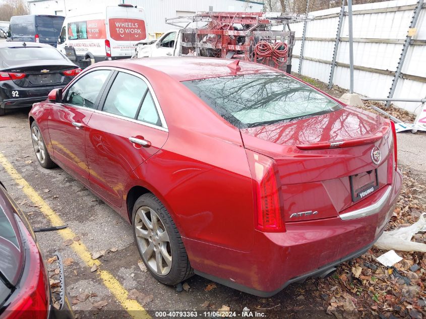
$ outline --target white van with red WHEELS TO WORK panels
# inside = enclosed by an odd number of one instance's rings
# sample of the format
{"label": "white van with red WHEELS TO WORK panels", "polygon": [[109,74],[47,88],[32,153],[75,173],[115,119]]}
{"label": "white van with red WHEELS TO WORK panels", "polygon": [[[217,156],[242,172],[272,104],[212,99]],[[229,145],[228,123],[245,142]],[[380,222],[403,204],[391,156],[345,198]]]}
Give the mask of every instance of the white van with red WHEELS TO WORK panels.
{"label": "white van with red WHEELS TO WORK panels", "polygon": [[128,4],[72,10],[64,20],[57,49],[74,47],[79,58],[96,62],[129,58],[134,45],[146,39],[142,8]]}

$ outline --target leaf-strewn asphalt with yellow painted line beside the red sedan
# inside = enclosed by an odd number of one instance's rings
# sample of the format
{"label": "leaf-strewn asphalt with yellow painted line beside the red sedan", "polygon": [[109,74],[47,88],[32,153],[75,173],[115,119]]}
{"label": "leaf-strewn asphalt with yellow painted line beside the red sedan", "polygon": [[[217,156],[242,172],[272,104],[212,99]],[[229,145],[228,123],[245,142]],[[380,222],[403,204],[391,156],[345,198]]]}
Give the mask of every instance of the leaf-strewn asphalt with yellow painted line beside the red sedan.
{"label": "leaf-strewn asphalt with yellow painted line beside the red sedan", "polygon": [[[182,292],[158,283],[138,265],[141,258],[127,221],[62,169],[44,169],[38,164],[27,116],[28,109],[23,109],[0,117],[0,180],[33,228],[55,223],[68,226],[63,231],[38,232],[37,239],[46,260],[55,251],[66,260],[67,294],[78,316],[99,312],[98,318],[167,317],[156,311],[199,310],[198,317],[209,317],[204,311],[225,305],[237,317],[247,307],[266,318],[329,318],[319,279],[290,285],[271,298],[255,297],[199,276],[188,279]],[[92,260],[96,252],[104,254]],[[267,269],[268,261],[264,262]],[[77,298],[85,293],[89,297],[80,298],[84,301]]]}

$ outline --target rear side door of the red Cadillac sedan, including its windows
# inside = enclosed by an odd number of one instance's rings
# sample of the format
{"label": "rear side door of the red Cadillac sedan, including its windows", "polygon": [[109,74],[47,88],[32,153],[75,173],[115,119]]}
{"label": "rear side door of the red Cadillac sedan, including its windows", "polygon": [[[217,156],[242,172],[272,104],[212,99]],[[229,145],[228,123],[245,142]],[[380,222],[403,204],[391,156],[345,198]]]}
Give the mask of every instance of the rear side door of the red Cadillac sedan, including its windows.
{"label": "rear side door of the red Cadillac sedan, including its windows", "polygon": [[129,175],[163,147],[168,130],[150,84],[137,73],[116,72],[99,108],[86,129],[90,186],[120,207]]}

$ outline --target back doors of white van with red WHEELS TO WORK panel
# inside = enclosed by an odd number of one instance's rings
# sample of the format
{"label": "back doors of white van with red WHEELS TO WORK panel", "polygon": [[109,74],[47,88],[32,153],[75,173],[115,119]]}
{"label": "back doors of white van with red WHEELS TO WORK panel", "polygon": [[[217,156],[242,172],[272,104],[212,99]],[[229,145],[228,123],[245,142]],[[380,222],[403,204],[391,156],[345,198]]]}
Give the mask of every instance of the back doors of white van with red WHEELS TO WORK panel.
{"label": "back doors of white van with red WHEELS TO WORK panel", "polygon": [[143,10],[119,5],[107,7],[106,14],[112,57],[132,56],[134,45],[146,39]]}

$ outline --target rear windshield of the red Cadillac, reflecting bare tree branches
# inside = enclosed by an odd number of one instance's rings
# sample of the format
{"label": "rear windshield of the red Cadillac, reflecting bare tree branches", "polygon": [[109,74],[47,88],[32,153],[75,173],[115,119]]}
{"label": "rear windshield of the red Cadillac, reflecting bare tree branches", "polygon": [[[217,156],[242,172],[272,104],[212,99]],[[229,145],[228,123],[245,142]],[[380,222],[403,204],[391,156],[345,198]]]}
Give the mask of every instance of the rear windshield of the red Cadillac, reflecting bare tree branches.
{"label": "rear windshield of the red Cadillac, reflecting bare tree branches", "polygon": [[307,118],[341,106],[283,73],[260,73],[182,82],[239,129]]}

